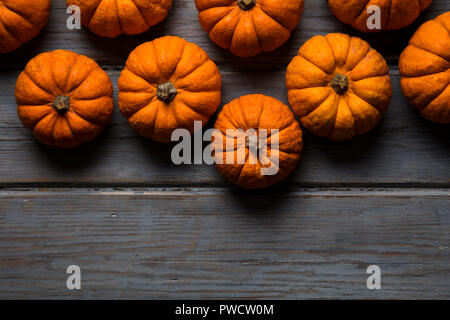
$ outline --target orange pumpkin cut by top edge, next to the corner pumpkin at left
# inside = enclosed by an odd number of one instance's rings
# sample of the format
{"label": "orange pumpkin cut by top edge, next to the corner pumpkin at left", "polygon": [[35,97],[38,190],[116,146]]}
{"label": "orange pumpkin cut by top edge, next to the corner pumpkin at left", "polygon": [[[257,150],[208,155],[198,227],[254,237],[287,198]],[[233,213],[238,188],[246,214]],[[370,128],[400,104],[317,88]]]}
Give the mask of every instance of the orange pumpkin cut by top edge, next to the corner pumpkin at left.
{"label": "orange pumpkin cut by top edge, next to the corner pumpkin at left", "polygon": [[95,34],[115,38],[139,34],[163,21],[172,0],[67,0],[81,10],[81,23]]}

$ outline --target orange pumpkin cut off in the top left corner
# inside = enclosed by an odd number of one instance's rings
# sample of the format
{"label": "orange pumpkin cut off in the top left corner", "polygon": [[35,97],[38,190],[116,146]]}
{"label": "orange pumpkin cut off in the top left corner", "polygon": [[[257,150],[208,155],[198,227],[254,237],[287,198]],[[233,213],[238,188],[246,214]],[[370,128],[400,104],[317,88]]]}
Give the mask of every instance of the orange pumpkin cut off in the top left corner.
{"label": "orange pumpkin cut off in the top left corner", "polygon": [[51,0],[0,0],[0,53],[14,51],[47,24]]}

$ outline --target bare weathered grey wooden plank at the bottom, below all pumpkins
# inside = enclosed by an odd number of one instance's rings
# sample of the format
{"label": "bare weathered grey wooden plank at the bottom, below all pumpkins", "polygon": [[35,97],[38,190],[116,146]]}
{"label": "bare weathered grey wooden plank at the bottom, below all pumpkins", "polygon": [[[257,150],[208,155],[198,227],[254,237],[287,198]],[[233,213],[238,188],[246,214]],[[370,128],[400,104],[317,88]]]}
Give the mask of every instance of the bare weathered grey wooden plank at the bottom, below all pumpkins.
{"label": "bare weathered grey wooden plank at the bottom, below all pumpkins", "polygon": [[449,195],[3,190],[0,298],[448,299]]}

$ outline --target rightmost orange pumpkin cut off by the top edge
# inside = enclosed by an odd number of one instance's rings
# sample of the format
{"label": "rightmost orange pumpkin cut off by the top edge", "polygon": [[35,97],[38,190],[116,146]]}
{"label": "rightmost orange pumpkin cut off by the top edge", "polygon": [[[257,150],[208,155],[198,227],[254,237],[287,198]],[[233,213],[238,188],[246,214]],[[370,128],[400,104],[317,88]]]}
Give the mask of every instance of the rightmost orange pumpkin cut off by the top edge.
{"label": "rightmost orange pumpkin cut off by the top edge", "polygon": [[[432,0],[328,0],[328,5],[342,22],[362,32],[377,32],[409,26],[431,2]],[[367,22],[375,14],[373,6],[380,9],[380,29],[367,27]]]}

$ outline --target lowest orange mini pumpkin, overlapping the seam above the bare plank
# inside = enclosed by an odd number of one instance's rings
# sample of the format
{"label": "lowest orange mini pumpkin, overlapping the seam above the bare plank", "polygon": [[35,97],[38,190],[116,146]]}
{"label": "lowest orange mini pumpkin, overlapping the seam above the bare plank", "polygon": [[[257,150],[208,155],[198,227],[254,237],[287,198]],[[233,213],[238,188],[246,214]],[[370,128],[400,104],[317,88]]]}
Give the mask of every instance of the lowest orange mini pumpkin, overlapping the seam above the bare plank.
{"label": "lowest orange mini pumpkin, overlapping the seam above the bare plank", "polygon": [[[222,133],[220,138],[214,139],[212,143],[215,150],[216,167],[227,180],[240,187],[262,189],[277,183],[295,169],[300,159],[303,149],[300,125],[289,107],[272,97],[253,94],[231,101],[219,113],[214,127]],[[254,129],[256,132],[266,129],[268,136],[266,154],[269,157],[272,154],[271,130],[279,130],[279,170],[276,175],[261,174],[261,168],[267,168],[270,165],[262,164],[260,158],[250,151],[248,145],[240,143],[242,139],[236,137],[234,139],[236,149],[227,149],[226,131],[238,129],[243,130],[242,134],[249,129]],[[245,164],[238,164],[237,155],[243,148],[245,148]],[[235,152],[234,164],[226,162],[229,152]],[[228,155],[228,157],[230,156]],[[217,159],[223,159],[222,164],[217,163]],[[272,164],[275,163],[272,162]]]}

